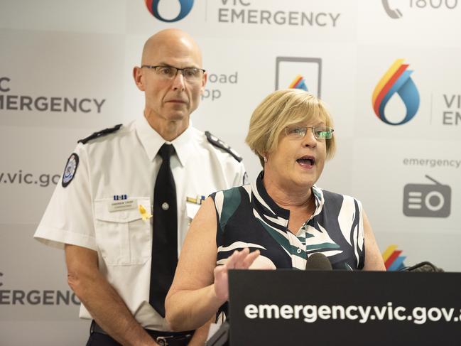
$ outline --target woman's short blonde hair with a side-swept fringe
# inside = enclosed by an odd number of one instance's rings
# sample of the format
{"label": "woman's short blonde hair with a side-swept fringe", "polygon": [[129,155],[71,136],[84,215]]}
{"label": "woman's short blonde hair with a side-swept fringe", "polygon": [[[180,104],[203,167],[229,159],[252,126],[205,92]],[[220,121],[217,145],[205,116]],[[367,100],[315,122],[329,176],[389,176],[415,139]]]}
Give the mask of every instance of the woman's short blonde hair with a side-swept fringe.
{"label": "woman's short blonde hair with a side-swept fringe", "polygon": [[[276,150],[286,126],[308,124],[310,121],[323,121],[325,126],[333,127],[327,107],[310,92],[299,89],[277,90],[254,109],[245,141],[264,167],[263,156]],[[325,141],[327,158],[332,158],[336,150],[335,136]]]}

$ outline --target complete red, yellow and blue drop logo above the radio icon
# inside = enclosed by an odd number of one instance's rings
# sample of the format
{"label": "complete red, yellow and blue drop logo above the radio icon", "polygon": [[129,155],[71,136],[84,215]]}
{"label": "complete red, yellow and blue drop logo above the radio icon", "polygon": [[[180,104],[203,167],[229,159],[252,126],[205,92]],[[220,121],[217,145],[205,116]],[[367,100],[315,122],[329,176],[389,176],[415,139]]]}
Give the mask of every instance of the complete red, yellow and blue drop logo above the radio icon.
{"label": "complete red, yellow and blue drop logo above the radio icon", "polygon": [[[419,92],[410,75],[413,71],[407,70],[408,64],[403,64],[403,59],[396,62],[387,70],[373,92],[374,114],[381,121],[389,125],[401,125],[413,119],[419,108]],[[401,97],[406,107],[405,117],[401,121],[392,122],[386,118],[384,110],[387,102],[395,94]]]}

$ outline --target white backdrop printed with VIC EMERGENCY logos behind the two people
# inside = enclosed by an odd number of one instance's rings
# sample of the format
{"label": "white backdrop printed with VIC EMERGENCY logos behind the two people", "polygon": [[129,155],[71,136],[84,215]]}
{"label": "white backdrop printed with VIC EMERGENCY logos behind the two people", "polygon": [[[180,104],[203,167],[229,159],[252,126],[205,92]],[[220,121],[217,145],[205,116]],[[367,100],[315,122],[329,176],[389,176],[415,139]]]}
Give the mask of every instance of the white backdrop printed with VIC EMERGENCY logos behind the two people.
{"label": "white backdrop printed with VIC EMERGENCY logos behind the two people", "polygon": [[[131,70],[162,28],[200,44],[209,82],[192,122],[235,148],[250,178],[261,169],[244,144],[252,110],[277,77],[288,87],[303,75],[335,119],[337,155],[318,185],[362,200],[382,252],[461,271],[461,1],[151,2],[167,20],[192,9],[168,23],[141,0],[0,0],[1,345],[85,343],[64,254],[32,236],[77,139],[142,116]],[[393,126],[371,96],[397,59],[420,104]],[[405,102],[394,94],[384,112],[399,121]],[[403,213],[406,187],[423,191],[425,216]]]}

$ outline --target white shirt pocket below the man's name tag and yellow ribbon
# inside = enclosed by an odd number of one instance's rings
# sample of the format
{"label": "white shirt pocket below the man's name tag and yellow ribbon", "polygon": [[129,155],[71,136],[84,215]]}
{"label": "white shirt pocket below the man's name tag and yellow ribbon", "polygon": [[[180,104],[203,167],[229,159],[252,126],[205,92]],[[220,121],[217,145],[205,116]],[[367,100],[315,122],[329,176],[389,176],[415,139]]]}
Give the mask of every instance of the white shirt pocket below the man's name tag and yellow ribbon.
{"label": "white shirt pocket below the man's name tag and yellow ribbon", "polygon": [[151,211],[150,198],[133,198],[134,207],[109,211],[112,199],[95,200],[96,242],[108,266],[144,264],[151,258],[151,219],[142,220],[139,205]]}

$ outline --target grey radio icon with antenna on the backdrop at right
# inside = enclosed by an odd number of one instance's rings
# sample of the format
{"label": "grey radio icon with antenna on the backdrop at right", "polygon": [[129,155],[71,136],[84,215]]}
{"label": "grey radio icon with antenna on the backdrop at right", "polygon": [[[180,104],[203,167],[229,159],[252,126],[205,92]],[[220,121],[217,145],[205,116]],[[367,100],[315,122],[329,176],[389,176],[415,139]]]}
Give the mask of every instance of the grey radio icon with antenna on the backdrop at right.
{"label": "grey radio icon with antenna on the backdrop at right", "polygon": [[434,184],[407,184],[403,188],[403,214],[416,217],[448,217],[451,188],[425,175]]}

